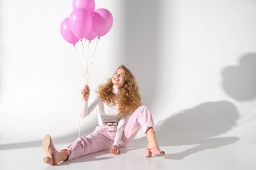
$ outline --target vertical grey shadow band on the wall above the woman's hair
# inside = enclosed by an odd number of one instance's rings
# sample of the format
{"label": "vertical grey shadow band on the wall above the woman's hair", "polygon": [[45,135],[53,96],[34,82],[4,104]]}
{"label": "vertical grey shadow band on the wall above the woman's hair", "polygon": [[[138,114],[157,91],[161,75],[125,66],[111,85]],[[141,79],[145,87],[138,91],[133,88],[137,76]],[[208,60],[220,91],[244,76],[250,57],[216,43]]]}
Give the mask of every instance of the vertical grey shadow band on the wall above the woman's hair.
{"label": "vertical grey shadow band on the wall above the woman's hair", "polygon": [[123,64],[135,75],[142,102],[150,106],[158,87],[160,6],[156,0],[124,1]]}

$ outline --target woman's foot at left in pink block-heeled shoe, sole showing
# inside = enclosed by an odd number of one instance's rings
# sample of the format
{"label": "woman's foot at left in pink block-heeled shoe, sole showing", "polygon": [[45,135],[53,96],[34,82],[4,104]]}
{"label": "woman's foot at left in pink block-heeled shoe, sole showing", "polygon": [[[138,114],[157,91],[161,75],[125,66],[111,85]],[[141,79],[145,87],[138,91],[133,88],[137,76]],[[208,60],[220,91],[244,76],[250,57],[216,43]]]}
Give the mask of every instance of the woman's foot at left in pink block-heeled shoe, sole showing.
{"label": "woman's foot at left in pink block-heeled shoe, sole showing", "polygon": [[46,157],[44,157],[44,163],[49,165],[57,165],[57,163],[67,159],[67,155],[57,151],[49,134],[46,134],[42,140],[42,150],[46,155]]}

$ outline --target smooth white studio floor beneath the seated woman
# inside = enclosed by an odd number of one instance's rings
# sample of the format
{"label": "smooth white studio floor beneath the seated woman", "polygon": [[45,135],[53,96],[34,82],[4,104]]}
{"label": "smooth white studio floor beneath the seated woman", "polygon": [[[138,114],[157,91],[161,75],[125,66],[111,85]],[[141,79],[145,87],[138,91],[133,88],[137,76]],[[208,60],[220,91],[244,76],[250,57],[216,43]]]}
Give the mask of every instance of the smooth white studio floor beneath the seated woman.
{"label": "smooth white studio floor beneath the seated woman", "polygon": [[[162,150],[166,152],[165,157],[145,157],[143,146],[146,144],[146,138],[137,138],[129,147],[121,149],[121,155],[113,156],[108,151],[102,151],[57,166],[49,166],[42,162],[44,154],[39,146],[40,141],[5,144],[0,145],[0,169],[255,170],[255,134],[246,134],[247,128],[254,127],[255,123],[251,122],[246,126],[222,134],[222,136],[190,140],[190,144],[189,142],[177,144],[177,140],[171,140],[172,136],[160,136],[161,133],[159,132],[159,143]],[[166,142],[162,139],[165,139]],[[57,148],[63,146],[66,144],[57,144]]]}

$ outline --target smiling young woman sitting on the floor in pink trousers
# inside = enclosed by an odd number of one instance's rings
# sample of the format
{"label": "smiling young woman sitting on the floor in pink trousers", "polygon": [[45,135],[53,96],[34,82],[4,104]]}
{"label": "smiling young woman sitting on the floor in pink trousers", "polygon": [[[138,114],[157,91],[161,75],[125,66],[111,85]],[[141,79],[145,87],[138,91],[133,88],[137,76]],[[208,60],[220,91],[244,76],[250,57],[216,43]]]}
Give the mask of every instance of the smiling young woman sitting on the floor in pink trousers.
{"label": "smiling young woman sitting on the floor in pink trousers", "polygon": [[57,151],[51,137],[47,134],[42,140],[42,149],[46,154],[44,163],[56,165],[96,153],[109,148],[113,155],[119,155],[119,147],[126,146],[137,134],[139,128],[148,138],[146,157],[164,156],[156,142],[154,122],[146,106],[141,106],[139,89],[135,77],[124,65],[121,65],[111,79],[98,88],[97,95],[88,103],[90,88],[81,91],[83,95],[82,117],[88,116],[98,106],[98,126],[88,136],[81,136],[61,151]]}

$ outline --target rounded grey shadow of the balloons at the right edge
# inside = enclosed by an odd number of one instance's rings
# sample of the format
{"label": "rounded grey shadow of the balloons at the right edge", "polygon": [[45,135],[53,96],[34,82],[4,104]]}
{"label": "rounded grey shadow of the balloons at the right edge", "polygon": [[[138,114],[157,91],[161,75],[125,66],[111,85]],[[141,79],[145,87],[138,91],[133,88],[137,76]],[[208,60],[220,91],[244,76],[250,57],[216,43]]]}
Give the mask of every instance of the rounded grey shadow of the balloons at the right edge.
{"label": "rounded grey shadow of the balloons at the right edge", "polygon": [[238,101],[250,101],[256,97],[256,53],[245,54],[236,66],[222,71],[222,87]]}

